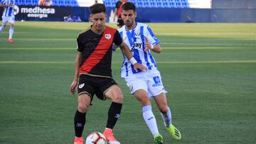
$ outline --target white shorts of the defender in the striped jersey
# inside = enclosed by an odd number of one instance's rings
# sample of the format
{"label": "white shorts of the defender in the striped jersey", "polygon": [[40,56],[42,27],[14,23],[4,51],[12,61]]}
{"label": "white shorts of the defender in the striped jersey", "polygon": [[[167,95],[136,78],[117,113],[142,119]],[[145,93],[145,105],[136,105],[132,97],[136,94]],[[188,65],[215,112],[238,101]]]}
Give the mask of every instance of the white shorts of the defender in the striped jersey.
{"label": "white shorts of the defender in the striped jersey", "polygon": [[139,72],[138,74],[132,74],[131,77],[125,77],[124,79],[132,94],[138,89],[144,89],[148,92],[149,98],[161,93],[167,93],[158,70],[154,70],[154,72],[151,72],[151,70]]}

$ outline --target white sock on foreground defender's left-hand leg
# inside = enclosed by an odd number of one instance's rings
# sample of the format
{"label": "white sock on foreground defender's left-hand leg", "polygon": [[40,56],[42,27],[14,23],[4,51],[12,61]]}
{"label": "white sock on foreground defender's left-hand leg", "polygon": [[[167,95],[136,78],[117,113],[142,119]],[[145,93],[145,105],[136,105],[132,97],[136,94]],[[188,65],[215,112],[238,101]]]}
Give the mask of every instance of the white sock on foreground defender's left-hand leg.
{"label": "white sock on foreground defender's left-hand leg", "polygon": [[151,131],[152,135],[154,136],[157,133],[159,133],[159,130],[156,124],[156,118],[152,113],[152,108],[150,105],[142,107],[142,114],[143,114],[144,121],[146,122],[147,126],[149,126],[149,130]]}

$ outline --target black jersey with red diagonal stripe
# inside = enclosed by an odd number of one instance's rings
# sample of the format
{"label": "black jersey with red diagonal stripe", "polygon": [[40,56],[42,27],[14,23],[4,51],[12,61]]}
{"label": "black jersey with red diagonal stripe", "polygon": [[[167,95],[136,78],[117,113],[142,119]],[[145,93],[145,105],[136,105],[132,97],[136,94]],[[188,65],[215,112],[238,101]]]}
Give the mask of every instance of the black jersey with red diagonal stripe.
{"label": "black jersey with red diagonal stripe", "polygon": [[82,52],[80,74],[95,74],[112,77],[112,43],[121,45],[122,38],[117,29],[106,26],[105,31],[98,35],[89,28],[78,35],[78,51]]}

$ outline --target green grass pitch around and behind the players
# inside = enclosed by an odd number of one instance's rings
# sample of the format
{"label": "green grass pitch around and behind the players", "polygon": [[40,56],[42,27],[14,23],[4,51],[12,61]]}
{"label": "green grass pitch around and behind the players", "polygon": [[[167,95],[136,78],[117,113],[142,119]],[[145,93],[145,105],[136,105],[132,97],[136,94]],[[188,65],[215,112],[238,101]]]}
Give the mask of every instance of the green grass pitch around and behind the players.
{"label": "green grass pitch around and behind the players", "polygon": [[[107,23],[109,26],[114,24]],[[16,22],[0,35],[0,143],[73,143],[77,96],[70,94],[76,37],[89,23]],[[152,102],[165,143],[256,143],[256,24],[149,23],[163,52],[154,54],[168,91],[175,141]],[[114,26],[115,27],[115,26]],[[153,144],[139,102],[119,76],[120,50],[112,72],[124,93],[114,128],[122,144]],[[94,99],[84,138],[102,132],[110,101]]]}

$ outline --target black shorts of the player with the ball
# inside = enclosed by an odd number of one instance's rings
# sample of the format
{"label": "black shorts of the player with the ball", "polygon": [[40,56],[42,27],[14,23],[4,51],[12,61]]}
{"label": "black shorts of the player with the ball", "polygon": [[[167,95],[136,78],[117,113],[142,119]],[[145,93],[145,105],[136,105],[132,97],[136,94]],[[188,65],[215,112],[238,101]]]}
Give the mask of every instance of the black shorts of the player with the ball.
{"label": "black shorts of the player with the ball", "polygon": [[92,77],[87,74],[80,74],[78,83],[78,96],[80,94],[88,94],[93,98],[96,94],[98,99],[105,100],[105,92],[112,85],[117,84],[114,79],[107,77]]}

